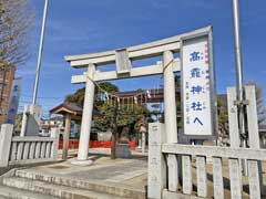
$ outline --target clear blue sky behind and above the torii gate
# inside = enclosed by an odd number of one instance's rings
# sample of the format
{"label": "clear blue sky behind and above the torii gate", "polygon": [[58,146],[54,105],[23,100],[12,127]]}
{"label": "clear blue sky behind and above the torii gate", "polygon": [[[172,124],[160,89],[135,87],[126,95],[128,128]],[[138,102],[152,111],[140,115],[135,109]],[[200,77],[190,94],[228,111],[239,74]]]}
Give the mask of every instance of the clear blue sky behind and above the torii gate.
{"label": "clear blue sky behind and above the torii gate", "polygon": [[[31,103],[44,0],[32,0],[34,24],[30,60],[19,66],[23,77],[20,109]],[[244,80],[266,88],[266,1],[241,1]],[[82,85],[70,83],[64,55],[84,54],[141,44],[213,25],[216,86],[225,93],[235,85],[232,0],[50,0],[38,104],[44,115]],[[151,88],[160,76],[117,81],[122,91]],[[266,94],[264,92],[264,96]]]}

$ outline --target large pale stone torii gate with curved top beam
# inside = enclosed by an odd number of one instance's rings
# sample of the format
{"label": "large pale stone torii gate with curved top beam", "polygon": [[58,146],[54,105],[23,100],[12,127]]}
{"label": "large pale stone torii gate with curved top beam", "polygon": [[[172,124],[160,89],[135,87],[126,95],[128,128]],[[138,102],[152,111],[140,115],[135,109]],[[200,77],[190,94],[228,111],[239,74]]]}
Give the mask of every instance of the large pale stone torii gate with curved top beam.
{"label": "large pale stone torii gate with curved top beam", "polygon": [[[89,153],[90,132],[92,123],[94,88],[93,82],[130,78],[147,75],[163,74],[164,80],[164,103],[165,103],[165,132],[168,144],[177,143],[177,124],[176,124],[176,102],[175,102],[175,80],[174,72],[181,71],[180,59],[174,59],[174,53],[180,53],[181,39],[195,35],[203,35],[212,30],[211,27],[198,29],[193,32],[158,40],[141,45],[106,51],[93,54],[69,55],[65,60],[72,67],[86,67],[88,72],[82,75],[72,76],[71,83],[85,83],[85,97],[81,124],[80,146],[78,161],[86,163]],[[146,57],[163,55],[163,62],[154,65],[134,67],[132,61]],[[100,65],[115,63],[116,71],[101,72]],[[172,159],[172,160],[171,160]],[[168,156],[173,163],[173,170],[177,168],[175,156]]]}

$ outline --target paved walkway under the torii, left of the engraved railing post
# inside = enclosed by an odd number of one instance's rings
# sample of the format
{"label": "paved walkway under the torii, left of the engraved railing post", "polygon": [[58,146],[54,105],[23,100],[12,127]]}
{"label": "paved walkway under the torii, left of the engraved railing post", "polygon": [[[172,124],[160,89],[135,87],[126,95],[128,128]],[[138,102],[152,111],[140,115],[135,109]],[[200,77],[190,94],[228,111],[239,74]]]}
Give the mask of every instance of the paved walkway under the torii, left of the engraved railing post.
{"label": "paved walkway under the torii, left of the engraved railing post", "polygon": [[147,157],[141,153],[134,151],[130,159],[112,160],[110,149],[90,149],[90,159],[94,160],[90,166],[72,165],[75,156],[76,150],[71,150],[66,161],[37,166],[29,170],[79,180],[123,184],[141,189],[147,184]]}

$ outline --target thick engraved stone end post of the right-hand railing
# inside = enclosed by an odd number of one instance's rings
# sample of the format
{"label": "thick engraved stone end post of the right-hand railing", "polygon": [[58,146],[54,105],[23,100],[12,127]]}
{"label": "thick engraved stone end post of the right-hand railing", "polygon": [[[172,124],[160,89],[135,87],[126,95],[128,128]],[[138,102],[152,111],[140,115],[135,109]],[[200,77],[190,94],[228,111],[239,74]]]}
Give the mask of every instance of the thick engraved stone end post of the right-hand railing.
{"label": "thick engraved stone end post of the right-hand railing", "polygon": [[162,154],[162,145],[166,142],[164,124],[149,124],[149,174],[147,198],[161,199],[166,188],[166,163]]}

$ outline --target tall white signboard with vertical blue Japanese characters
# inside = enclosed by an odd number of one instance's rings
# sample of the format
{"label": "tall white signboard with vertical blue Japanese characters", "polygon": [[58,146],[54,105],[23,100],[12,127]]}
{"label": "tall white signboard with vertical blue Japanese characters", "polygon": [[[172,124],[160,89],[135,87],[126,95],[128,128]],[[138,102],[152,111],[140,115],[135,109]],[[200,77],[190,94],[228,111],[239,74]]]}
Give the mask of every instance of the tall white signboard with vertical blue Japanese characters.
{"label": "tall white signboard with vertical blue Japanese characters", "polygon": [[184,134],[212,136],[214,95],[212,52],[208,34],[183,40],[182,94]]}

